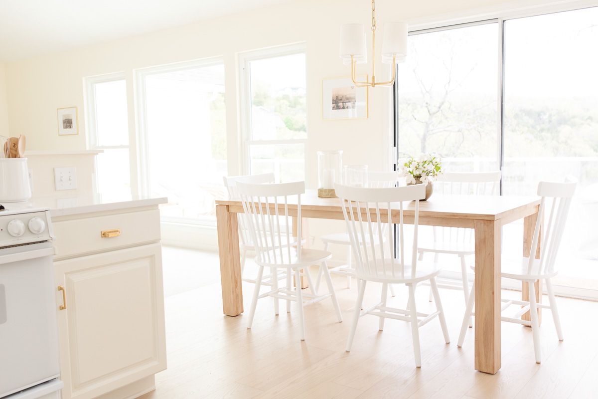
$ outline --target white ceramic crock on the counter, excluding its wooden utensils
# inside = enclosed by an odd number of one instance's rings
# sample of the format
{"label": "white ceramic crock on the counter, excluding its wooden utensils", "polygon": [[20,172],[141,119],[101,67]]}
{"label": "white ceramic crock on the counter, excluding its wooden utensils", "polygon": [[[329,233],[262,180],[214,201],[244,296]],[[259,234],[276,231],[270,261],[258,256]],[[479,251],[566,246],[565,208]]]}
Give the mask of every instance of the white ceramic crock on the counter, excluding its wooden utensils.
{"label": "white ceramic crock on the counter, excluding its wooden utensils", "polygon": [[0,203],[31,198],[26,158],[0,158]]}

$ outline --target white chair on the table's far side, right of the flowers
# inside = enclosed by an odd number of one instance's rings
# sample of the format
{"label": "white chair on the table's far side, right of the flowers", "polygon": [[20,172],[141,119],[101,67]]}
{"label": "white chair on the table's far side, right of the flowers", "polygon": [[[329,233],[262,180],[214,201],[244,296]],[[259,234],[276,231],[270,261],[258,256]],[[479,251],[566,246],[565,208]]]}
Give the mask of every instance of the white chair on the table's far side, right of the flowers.
{"label": "white chair on the table's far side, right of the flowers", "polygon": [[[434,191],[437,194],[450,195],[499,195],[501,187],[501,171],[493,172],[446,172],[438,176],[434,183]],[[432,240],[420,241],[417,252],[419,259],[423,259],[426,253],[434,254],[434,261],[438,261],[438,255],[456,255],[460,261],[461,282],[456,283],[453,279],[438,278],[438,287],[451,290],[463,290],[465,303],[469,298],[469,279],[467,273],[466,257],[475,254],[474,229],[465,227],[432,227]],[[432,301],[432,290],[429,293],[429,301]],[[471,327],[471,323],[469,324]]]}

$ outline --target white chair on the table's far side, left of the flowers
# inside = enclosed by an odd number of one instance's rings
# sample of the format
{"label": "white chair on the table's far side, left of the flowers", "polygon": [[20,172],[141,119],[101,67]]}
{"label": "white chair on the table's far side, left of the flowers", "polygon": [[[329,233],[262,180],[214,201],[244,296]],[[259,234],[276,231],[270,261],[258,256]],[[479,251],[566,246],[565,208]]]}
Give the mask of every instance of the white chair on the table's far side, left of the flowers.
{"label": "white chair on the table's far side, left of the flowers", "polygon": [[[381,187],[395,187],[396,182],[398,181],[398,173],[397,172],[368,172],[368,187],[371,188],[381,188]],[[386,227],[386,226],[385,226]],[[386,240],[386,234],[383,232],[383,240]],[[374,234],[377,234],[374,232]],[[341,264],[340,266],[332,267],[330,269],[331,274],[341,275],[347,277],[347,288],[351,288],[351,279],[355,277],[355,268],[353,268],[353,261],[352,261],[352,249],[351,249],[351,241],[349,239],[348,233],[332,233],[326,234],[324,236],[319,237],[320,240],[324,243],[324,251],[328,251],[328,246],[330,244],[336,245],[344,245],[347,248],[346,251],[346,263]],[[378,239],[376,238],[376,242]],[[322,278],[322,272],[318,273],[318,278],[316,278],[316,291],[318,291],[320,287],[320,281]],[[393,291],[392,285],[390,286],[390,294],[395,296]]]}

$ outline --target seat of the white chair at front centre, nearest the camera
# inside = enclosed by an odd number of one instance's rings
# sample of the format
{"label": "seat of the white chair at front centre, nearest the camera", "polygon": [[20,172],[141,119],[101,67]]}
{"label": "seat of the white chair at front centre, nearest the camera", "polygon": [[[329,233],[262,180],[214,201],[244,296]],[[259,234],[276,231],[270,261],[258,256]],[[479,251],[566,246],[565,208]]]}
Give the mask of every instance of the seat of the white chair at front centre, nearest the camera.
{"label": "seat of the white chair at front centre, nearest the camera", "polygon": [[[434,276],[437,276],[441,272],[441,266],[438,263],[417,261],[416,275],[411,277],[411,265],[405,264],[404,275],[401,275],[401,266],[399,261],[396,260],[394,266],[390,260],[386,260],[384,264],[384,270],[382,264],[377,267],[377,275],[375,273],[361,273],[359,270],[357,278],[368,281],[387,282],[391,284],[411,284],[420,281],[429,280]],[[392,270],[395,270],[394,276]],[[385,275],[386,272],[386,275]]]}

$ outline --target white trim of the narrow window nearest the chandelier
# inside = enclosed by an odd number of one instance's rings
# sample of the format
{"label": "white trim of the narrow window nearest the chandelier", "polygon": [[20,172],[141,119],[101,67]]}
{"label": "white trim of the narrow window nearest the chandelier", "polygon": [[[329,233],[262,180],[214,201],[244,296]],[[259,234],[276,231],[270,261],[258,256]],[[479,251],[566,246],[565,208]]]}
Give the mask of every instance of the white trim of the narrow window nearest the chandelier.
{"label": "white trim of the narrow window nearest the chandelier", "polygon": [[[249,175],[251,165],[249,160],[249,148],[252,145],[276,145],[276,144],[303,144],[304,146],[304,167],[303,173],[307,175],[307,138],[288,140],[254,140],[251,131],[251,76],[249,75],[249,63],[255,60],[263,60],[274,57],[288,56],[291,54],[307,53],[305,42],[280,45],[276,47],[263,48],[260,50],[245,51],[239,53],[239,116],[240,116],[240,138],[243,142],[241,172]],[[307,76],[306,76],[307,83]],[[307,84],[306,84],[307,92]],[[306,94],[307,96],[307,94]],[[307,110],[306,110],[307,112]]]}

